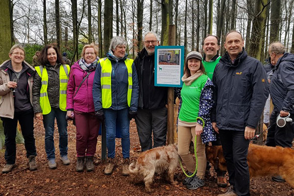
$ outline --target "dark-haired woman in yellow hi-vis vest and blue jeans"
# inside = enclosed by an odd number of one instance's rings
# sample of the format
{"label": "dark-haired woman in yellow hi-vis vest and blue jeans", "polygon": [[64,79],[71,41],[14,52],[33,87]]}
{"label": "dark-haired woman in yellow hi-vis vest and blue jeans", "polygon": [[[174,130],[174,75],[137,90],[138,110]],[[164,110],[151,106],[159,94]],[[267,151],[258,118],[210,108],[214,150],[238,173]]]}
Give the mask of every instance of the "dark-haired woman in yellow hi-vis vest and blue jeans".
{"label": "dark-haired woman in yellow hi-vis vest and blue jeans", "polygon": [[57,167],[54,148],[54,121],[56,118],[59,132],[60,159],[69,165],[68,134],[66,122],[66,91],[70,66],[65,65],[59,49],[47,45],[38,57],[39,67],[33,85],[33,107],[36,118],[43,120],[45,128],[45,150],[50,169]]}

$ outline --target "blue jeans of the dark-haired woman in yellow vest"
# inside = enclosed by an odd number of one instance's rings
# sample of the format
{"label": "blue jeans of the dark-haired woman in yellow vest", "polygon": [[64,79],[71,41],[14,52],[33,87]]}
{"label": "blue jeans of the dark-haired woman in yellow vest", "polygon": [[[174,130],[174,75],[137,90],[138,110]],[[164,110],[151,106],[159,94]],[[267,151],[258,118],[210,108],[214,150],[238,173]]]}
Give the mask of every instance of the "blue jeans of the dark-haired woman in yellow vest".
{"label": "blue jeans of the dark-haired woman in yellow vest", "polygon": [[51,108],[49,114],[43,115],[43,123],[45,128],[45,150],[48,160],[55,159],[55,147],[54,147],[54,121],[56,118],[57,127],[59,132],[59,151],[60,156],[67,155],[68,151],[68,134],[67,134],[67,122],[65,120],[66,111],[62,111],[59,108]]}

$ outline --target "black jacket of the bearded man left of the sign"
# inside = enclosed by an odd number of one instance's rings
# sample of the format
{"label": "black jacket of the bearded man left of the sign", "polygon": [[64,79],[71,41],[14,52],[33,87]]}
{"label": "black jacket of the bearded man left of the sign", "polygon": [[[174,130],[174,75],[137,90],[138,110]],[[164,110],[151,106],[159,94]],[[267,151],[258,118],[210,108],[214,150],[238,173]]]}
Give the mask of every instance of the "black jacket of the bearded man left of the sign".
{"label": "black jacket of the bearded man left of the sign", "polygon": [[134,61],[139,79],[140,109],[157,109],[167,104],[168,88],[154,86],[154,54],[148,55],[144,48]]}

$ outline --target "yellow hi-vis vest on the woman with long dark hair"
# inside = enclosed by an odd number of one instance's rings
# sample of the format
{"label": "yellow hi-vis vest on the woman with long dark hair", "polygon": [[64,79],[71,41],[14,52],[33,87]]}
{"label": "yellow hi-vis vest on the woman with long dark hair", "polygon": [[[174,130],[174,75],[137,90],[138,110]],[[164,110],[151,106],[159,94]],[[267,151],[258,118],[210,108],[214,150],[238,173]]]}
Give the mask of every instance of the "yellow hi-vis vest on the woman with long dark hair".
{"label": "yellow hi-vis vest on the woman with long dark hair", "polygon": [[[47,94],[47,87],[48,87],[48,73],[46,67],[38,66],[35,67],[37,73],[41,77],[42,87],[40,91],[40,106],[42,109],[42,113],[49,114],[51,112],[51,106],[49,103],[49,98]],[[67,91],[67,83],[69,81],[69,72],[70,66],[69,65],[62,65],[60,66],[59,70],[59,108],[62,111],[66,111],[66,91]]]}

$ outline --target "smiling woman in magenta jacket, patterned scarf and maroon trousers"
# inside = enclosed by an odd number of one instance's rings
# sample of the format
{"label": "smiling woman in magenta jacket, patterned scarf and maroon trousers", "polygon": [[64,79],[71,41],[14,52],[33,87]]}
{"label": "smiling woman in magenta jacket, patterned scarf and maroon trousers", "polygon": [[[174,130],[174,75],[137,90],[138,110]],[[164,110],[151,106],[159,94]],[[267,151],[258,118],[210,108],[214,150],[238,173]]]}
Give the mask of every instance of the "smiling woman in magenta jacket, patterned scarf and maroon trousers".
{"label": "smiling woman in magenta jacket, patterned scarf and maroon trousers", "polygon": [[92,90],[98,60],[97,46],[93,43],[85,45],[81,58],[71,67],[67,87],[67,116],[74,118],[76,125],[77,172],[83,172],[85,161],[87,172],[94,171],[100,122],[95,117]]}

